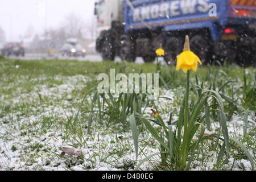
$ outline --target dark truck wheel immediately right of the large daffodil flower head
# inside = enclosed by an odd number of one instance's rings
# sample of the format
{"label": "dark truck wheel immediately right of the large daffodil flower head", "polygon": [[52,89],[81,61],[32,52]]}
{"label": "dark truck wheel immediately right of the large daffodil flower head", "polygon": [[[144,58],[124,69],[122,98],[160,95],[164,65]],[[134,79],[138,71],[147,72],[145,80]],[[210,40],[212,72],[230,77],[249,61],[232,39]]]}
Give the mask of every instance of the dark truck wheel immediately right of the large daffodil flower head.
{"label": "dark truck wheel immediately right of the large daffodil flower head", "polygon": [[208,55],[210,49],[208,41],[205,40],[204,36],[195,35],[191,38],[190,42],[191,51],[199,56],[203,64],[206,64],[208,62]]}

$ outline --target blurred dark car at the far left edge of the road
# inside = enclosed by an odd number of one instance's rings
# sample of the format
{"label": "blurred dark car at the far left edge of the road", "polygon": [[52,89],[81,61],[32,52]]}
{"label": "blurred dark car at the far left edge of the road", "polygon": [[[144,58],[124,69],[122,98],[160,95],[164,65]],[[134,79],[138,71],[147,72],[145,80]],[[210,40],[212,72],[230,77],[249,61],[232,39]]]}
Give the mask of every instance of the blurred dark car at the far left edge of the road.
{"label": "blurred dark car at the far left edge of the road", "polygon": [[7,43],[1,49],[1,54],[6,56],[10,56],[10,55],[24,56],[25,49],[22,43],[17,43],[17,42]]}

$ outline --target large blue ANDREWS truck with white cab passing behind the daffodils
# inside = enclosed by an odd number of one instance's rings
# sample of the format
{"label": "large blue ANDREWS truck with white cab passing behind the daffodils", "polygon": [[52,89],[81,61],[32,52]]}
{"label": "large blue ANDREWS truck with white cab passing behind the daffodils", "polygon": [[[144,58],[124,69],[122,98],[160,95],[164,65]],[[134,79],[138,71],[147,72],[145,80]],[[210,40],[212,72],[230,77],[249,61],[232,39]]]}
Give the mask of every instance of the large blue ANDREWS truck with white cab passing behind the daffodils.
{"label": "large blue ANDREWS truck with white cab passing behind the daffodils", "polygon": [[96,49],[105,60],[154,61],[162,44],[164,60],[175,64],[189,35],[192,51],[205,63],[256,62],[255,0],[100,0],[95,14]]}

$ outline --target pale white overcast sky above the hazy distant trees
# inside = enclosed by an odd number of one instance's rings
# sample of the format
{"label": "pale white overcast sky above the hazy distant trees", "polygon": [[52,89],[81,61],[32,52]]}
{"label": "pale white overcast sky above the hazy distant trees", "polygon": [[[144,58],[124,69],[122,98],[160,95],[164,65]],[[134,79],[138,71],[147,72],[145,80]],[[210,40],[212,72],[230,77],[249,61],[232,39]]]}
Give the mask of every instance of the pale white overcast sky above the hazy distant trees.
{"label": "pale white overcast sky above the hazy distant trees", "polygon": [[28,27],[42,33],[45,24],[47,28],[59,27],[72,12],[92,23],[94,0],[0,0],[0,27],[7,41],[17,41]]}

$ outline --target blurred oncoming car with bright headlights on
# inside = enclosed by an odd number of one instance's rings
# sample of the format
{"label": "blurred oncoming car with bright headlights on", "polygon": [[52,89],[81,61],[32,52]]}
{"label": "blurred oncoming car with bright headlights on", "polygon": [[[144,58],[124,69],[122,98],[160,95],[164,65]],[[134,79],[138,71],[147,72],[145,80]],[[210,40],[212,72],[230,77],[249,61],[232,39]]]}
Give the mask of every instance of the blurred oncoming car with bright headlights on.
{"label": "blurred oncoming car with bright headlights on", "polygon": [[76,39],[69,38],[61,48],[61,54],[63,56],[82,56],[86,55],[86,49],[83,48]]}

